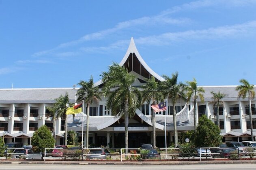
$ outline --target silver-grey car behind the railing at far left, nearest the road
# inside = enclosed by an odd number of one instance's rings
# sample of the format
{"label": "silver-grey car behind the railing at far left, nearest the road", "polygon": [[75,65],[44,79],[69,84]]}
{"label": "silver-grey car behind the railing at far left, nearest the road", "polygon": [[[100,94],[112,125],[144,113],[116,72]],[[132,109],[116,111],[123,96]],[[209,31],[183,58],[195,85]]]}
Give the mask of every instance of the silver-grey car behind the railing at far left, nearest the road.
{"label": "silver-grey car behind the railing at far left, nearest the road", "polygon": [[12,159],[43,159],[42,153],[35,153],[32,149],[15,149],[11,155]]}

